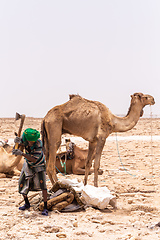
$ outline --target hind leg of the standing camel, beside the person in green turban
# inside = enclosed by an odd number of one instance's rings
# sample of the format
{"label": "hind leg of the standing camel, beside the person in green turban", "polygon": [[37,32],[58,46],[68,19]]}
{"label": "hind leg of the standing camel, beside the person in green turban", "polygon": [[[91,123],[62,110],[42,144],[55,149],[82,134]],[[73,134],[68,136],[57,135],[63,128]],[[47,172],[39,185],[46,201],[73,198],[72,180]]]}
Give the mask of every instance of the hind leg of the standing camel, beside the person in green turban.
{"label": "hind leg of the standing camel, beside the person in green turban", "polygon": [[49,157],[47,160],[47,174],[52,182],[57,182],[56,175],[56,152],[61,144],[62,123],[60,121],[49,122],[46,124]]}

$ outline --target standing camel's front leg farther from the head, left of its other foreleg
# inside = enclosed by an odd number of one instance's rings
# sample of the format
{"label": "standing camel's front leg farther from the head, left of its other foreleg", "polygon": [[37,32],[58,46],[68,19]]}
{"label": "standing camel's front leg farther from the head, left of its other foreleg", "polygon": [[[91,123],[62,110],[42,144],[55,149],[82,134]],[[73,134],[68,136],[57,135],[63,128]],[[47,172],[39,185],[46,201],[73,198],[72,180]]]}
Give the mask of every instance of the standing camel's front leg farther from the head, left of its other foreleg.
{"label": "standing camel's front leg farther from the head, left of its other foreleg", "polygon": [[87,184],[89,171],[90,171],[90,168],[92,166],[92,160],[93,160],[92,156],[93,156],[96,144],[97,144],[97,142],[92,142],[92,143],[90,142],[89,143],[88,156],[87,156],[86,163],[85,163],[84,185]]}

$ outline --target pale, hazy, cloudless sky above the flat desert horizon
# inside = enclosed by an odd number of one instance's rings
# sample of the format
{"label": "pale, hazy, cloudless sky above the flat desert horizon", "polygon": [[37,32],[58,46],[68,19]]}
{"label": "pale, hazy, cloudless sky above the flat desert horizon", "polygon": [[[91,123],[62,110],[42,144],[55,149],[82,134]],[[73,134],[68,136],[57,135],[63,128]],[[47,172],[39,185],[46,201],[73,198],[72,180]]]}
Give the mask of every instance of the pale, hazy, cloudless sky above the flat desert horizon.
{"label": "pale, hazy, cloudless sky above the flat desert horizon", "polygon": [[160,116],[160,1],[0,0],[0,79],[0,117],[44,117],[73,93],[126,114],[135,92]]}

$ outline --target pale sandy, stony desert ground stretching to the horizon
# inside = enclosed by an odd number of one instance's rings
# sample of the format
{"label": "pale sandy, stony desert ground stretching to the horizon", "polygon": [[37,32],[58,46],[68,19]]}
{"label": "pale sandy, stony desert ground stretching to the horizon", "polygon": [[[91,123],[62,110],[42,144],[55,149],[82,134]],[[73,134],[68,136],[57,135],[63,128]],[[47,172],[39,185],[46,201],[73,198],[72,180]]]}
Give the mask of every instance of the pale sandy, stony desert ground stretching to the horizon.
{"label": "pale sandy, stony desert ground stretching to the horizon", "polygon": [[[40,118],[27,117],[24,128],[40,130]],[[13,118],[0,119],[0,139],[13,139],[19,122]],[[126,133],[117,133],[106,140],[101,156],[103,175],[99,187],[106,186],[116,196],[117,209],[88,207],[79,212],[50,211],[42,216],[33,207],[19,211],[22,196],[18,193],[18,178],[0,178],[0,240],[5,239],[101,239],[156,240],[160,239],[160,119],[141,118]],[[145,137],[144,137],[145,136]],[[136,138],[133,138],[136,137]],[[77,141],[82,148],[87,143]],[[58,178],[82,180],[84,176],[60,173]],[[93,185],[94,175],[88,184]],[[51,183],[47,177],[47,187]],[[31,193],[32,194],[32,193]]]}

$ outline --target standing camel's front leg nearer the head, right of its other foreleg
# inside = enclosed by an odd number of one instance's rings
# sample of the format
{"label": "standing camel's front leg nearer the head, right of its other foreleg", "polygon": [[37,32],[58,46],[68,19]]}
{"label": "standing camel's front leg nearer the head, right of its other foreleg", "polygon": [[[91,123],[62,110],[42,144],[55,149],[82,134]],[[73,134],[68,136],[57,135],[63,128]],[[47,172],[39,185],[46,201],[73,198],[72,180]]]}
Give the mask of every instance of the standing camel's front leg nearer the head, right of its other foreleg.
{"label": "standing camel's front leg nearer the head, right of its other foreleg", "polygon": [[100,138],[97,142],[96,155],[94,160],[94,186],[98,187],[98,170],[100,167],[100,158],[106,138]]}

